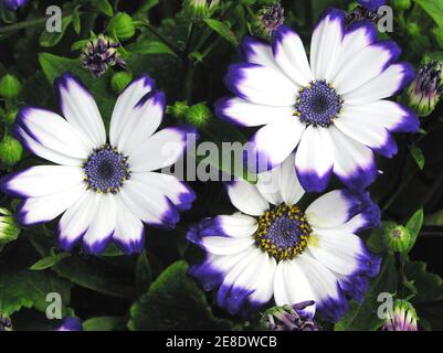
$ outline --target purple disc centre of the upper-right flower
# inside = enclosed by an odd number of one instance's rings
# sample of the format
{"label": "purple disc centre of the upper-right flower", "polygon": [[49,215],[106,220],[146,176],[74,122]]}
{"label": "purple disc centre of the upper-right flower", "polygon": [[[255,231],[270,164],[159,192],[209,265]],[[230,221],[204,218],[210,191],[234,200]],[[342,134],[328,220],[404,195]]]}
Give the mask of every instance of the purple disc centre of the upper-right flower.
{"label": "purple disc centre of the upper-right flower", "polygon": [[328,127],[340,113],[342,99],[326,81],[302,88],[294,115],[306,125]]}

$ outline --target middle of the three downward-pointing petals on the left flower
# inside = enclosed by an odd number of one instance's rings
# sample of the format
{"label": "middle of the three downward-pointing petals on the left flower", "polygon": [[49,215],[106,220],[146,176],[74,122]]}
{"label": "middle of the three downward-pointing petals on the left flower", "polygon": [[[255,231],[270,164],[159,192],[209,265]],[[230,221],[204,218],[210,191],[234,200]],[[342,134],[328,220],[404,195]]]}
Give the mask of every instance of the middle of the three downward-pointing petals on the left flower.
{"label": "middle of the three downward-pointing petals on the left flower", "polygon": [[117,196],[99,194],[96,214],[83,237],[83,244],[91,254],[102,253],[113,236],[117,222]]}

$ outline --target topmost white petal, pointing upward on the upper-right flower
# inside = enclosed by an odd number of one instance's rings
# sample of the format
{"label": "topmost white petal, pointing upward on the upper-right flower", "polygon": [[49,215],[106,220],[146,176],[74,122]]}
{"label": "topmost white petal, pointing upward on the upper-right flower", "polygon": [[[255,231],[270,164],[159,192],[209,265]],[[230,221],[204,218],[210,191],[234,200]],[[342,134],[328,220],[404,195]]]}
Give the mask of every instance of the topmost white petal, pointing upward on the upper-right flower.
{"label": "topmost white petal, pointing upward on the upper-right flower", "polygon": [[340,55],[345,34],[345,13],[336,9],[317,23],[310,42],[310,67],[316,79],[330,81]]}

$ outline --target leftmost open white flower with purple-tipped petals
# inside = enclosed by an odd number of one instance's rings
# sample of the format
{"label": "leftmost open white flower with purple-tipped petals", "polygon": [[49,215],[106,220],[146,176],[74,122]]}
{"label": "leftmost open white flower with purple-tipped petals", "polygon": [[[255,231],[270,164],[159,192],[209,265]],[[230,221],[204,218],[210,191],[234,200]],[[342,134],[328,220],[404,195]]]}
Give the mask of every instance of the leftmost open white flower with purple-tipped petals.
{"label": "leftmost open white flower with purple-tipped petals", "polygon": [[0,181],[2,192],[24,199],[18,210],[24,225],[59,222],[64,250],[83,240],[102,253],[113,240],[126,254],[140,252],[144,223],[173,228],[193,192],[176,176],[158,172],[183,153],[188,126],[154,133],[164,116],[165,95],[148,76],[120,94],[109,127],[109,142],[98,107],[76,77],[55,82],[64,118],[25,107],[15,136],[31,152],[60,165],[31,167]]}

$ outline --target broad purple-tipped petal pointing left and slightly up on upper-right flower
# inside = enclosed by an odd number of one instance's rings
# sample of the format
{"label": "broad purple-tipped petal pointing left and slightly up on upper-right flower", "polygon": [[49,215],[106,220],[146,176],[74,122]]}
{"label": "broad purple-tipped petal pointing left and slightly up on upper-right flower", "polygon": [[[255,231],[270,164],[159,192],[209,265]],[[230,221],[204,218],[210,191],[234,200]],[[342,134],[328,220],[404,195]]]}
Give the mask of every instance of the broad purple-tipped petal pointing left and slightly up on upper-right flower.
{"label": "broad purple-tipped petal pointing left and slightly up on upper-right flower", "polygon": [[225,84],[240,98],[277,107],[294,105],[299,89],[283,73],[251,63],[231,65]]}

